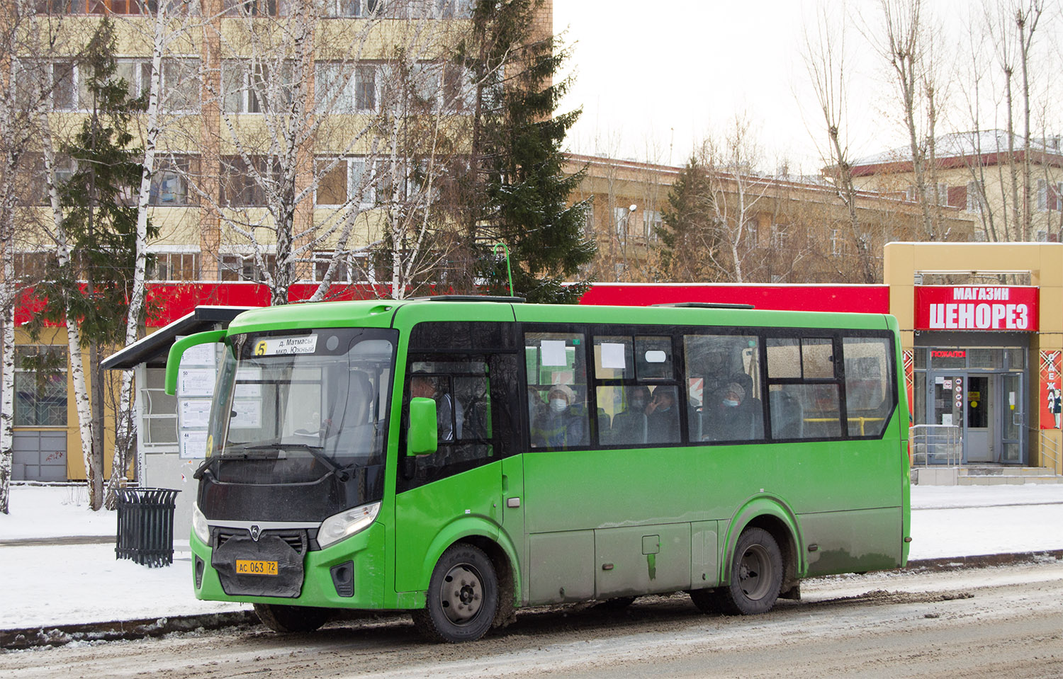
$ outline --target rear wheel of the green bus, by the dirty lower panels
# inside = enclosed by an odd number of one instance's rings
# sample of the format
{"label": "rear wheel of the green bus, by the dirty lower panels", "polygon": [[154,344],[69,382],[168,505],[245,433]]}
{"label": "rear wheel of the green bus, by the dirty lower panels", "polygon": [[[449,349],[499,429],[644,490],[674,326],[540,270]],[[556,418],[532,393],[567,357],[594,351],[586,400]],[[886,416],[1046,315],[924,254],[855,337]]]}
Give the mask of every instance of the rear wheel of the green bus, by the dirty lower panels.
{"label": "rear wheel of the green bus, by the dirty lower panels", "polygon": [[743,530],[729,575],[729,582],[718,590],[721,612],[754,615],[770,611],[782,587],[782,553],[775,538],[763,528]]}

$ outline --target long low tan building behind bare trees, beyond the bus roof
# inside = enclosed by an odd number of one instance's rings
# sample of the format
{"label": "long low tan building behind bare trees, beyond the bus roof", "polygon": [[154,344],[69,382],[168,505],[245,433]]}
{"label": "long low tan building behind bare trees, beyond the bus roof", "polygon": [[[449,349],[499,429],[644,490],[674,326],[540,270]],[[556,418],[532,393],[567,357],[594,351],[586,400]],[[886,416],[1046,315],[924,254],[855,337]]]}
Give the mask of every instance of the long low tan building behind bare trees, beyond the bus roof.
{"label": "long low tan building behind bare trees, beyond the bus roof", "polygon": [[[586,176],[572,201],[587,203],[588,235],[598,249],[588,276],[617,283],[668,279],[657,230],[682,168],[570,155],[566,172],[580,169]],[[743,282],[880,283],[882,247],[918,233],[918,205],[902,194],[859,191],[855,233],[847,207],[827,184],[723,172],[712,173],[710,183],[716,217],[727,224],[721,232],[735,240]],[[943,206],[941,215],[949,240],[973,239],[973,214]],[[705,257],[714,257],[723,269],[714,282],[737,281],[729,252]]]}

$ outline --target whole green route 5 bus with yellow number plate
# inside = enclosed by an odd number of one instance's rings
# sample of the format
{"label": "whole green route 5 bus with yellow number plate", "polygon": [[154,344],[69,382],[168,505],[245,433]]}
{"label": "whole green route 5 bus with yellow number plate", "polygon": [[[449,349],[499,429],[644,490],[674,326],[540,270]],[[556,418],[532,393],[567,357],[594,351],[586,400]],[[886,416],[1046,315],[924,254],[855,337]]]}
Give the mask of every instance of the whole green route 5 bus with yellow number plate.
{"label": "whole green route 5 bus with yellow number plate", "polygon": [[479,639],[520,607],[686,591],[760,613],[904,566],[895,319],[513,298],[299,304],[223,342],[192,534],[201,599],[277,631],[409,610]]}

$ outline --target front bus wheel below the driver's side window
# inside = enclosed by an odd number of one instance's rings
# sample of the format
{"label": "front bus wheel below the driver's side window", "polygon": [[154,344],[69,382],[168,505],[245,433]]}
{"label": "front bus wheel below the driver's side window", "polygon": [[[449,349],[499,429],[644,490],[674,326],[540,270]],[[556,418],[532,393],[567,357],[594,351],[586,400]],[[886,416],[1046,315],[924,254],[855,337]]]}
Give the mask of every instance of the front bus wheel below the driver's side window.
{"label": "front bus wheel below the driver's side window", "polygon": [[480,548],[459,542],[439,557],[414,624],[434,641],[476,641],[491,629],[497,608],[494,565]]}

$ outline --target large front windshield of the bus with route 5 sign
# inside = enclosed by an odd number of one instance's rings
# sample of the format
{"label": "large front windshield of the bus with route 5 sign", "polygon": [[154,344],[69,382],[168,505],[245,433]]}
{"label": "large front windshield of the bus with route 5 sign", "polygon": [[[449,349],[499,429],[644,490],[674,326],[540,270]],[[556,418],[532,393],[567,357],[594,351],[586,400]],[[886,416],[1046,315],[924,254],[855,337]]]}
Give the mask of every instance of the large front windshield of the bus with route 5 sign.
{"label": "large front windshield of the bus with route 5 sign", "polygon": [[347,470],[383,463],[394,354],[388,332],[249,334],[232,346],[212,414],[214,456],[291,462],[268,465],[258,483],[328,473],[345,480]]}

